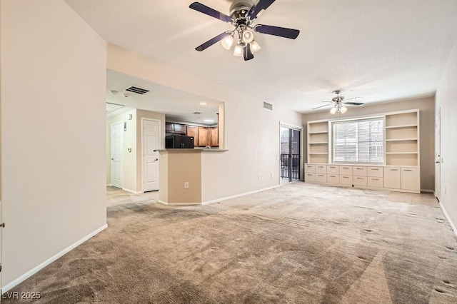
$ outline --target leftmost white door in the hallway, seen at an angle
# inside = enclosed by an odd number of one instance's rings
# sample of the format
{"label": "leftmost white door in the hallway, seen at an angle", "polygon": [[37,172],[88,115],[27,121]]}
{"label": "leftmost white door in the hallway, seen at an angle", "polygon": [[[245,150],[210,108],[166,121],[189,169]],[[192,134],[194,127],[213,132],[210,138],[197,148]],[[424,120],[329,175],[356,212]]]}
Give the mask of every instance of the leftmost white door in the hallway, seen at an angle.
{"label": "leftmost white door in the hallway, seen at an angle", "polygon": [[124,122],[111,125],[111,185],[123,188]]}

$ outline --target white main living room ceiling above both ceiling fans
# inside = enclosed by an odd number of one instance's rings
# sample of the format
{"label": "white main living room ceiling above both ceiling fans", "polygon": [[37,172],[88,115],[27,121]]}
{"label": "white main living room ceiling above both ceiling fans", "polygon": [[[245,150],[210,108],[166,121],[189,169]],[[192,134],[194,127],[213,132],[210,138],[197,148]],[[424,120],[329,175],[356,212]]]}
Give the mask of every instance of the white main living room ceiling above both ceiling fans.
{"label": "white main living room ceiling above both ceiling fans", "polygon": [[[263,49],[245,62],[220,44],[194,50],[232,26],[192,0],[66,2],[112,44],[301,112],[338,88],[366,103],[431,96],[457,41],[456,0],[277,0],[256,24],[300,36],[256,34]],[[231,2],[201,0],[224,14]]]}

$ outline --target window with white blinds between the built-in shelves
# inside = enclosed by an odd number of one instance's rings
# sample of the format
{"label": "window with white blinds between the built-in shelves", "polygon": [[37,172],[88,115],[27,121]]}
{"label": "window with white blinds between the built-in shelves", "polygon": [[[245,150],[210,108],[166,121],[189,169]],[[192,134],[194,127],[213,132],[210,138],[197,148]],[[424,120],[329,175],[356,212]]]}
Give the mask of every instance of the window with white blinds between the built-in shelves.
{"label": "window with white blinds between the built-in shelves", "polygon": [[384,162],[384,118],[332,122],[333,163]]}

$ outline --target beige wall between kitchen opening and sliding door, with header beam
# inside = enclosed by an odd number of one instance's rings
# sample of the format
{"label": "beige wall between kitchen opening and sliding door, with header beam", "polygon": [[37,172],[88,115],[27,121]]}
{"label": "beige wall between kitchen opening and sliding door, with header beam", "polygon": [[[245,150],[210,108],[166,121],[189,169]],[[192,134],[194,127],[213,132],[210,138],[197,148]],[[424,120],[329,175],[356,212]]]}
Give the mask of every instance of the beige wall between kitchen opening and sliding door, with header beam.
{"label": "beige wall between kitchen opening and sliding door, with header beam", "polygon": [[[273,112],[265,110],[263,100],[259,98],[243,96],[232,88],[117,46],[109,45],[108,68],[225,102],[224,148],[229,152],[215,156],[219,181],[211,183],[212,193],[208,198],[223,198],[278,185],[279,121],[301,126],[301,114],[277,105]],[[203,187],[207,188],[206,184]]]}

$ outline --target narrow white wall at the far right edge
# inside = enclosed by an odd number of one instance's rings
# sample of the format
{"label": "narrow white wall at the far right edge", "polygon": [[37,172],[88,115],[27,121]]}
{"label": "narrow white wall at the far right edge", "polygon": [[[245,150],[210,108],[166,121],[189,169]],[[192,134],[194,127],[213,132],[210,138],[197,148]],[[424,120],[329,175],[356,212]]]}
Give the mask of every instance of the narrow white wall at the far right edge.
{"label": "narrow white wall at the far right edge", "polygon": [[[441,206],[457,226],[457,44],[436,91],[436,111],[441,108]],[[457,230],[455,231],[457,233]]]}

